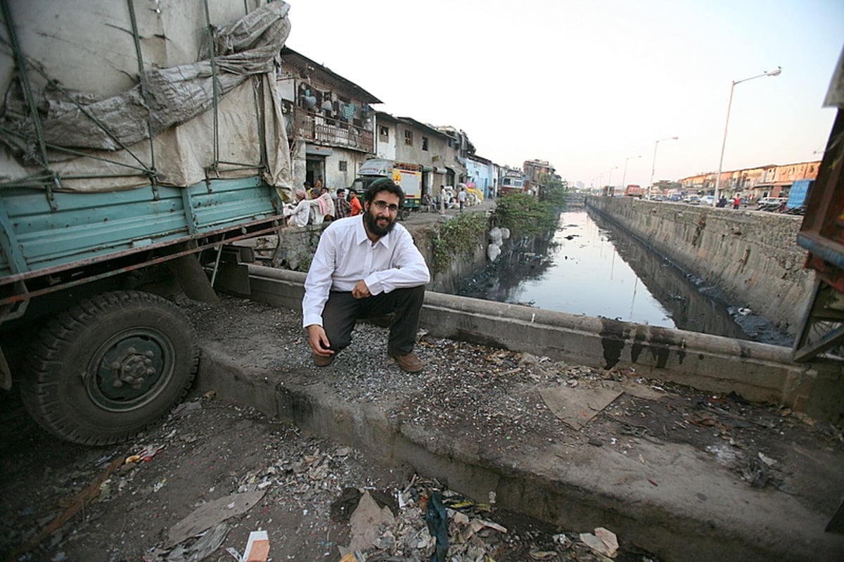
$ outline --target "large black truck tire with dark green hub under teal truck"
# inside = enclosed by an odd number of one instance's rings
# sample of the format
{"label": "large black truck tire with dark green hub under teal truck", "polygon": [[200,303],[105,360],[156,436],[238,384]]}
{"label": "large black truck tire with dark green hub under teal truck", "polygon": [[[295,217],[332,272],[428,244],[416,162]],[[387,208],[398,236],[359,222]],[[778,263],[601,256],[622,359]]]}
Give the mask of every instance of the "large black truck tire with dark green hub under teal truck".
{"label": "large black truck tire with dark green hub under teal truck", "polygon": [[111,445],[169,413],[198,364],[196,332],[176,305],[141,291],[115,291],[47,322],[28,354],[21,394],[51,433]]}

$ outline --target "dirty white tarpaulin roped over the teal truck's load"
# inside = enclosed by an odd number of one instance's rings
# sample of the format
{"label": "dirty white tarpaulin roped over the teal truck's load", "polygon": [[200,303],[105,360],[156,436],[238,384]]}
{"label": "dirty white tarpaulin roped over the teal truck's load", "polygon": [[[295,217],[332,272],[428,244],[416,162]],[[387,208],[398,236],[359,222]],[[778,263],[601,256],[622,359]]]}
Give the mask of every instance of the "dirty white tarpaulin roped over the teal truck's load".
{"label": "dirty white tarpaulin roped over the teal truck's load", "polygon": [[[62,179],[62,188],[90,192],[148,185],[128,166],[153,163],[160,183],[170,186],[192,185],[206,176],[252,176],[263,148],[265,181],[288,191],[289,148],[275,84],[275,65],[289,34],[288,4],[260,3],[244,14],[243,3],[208,0],[212,22],[225,21],[214,26],[216,73],[202,2],[134,0],[133,6],[143,82],[127,3],[34,0],[11,9],[19,51],[43,69],[43,76],[33,70],[29,75],[52,147],[49,170],[60,178],[100,176]],[[0,84],[8,92],[0,140],[19,163],[0,169],[0,179],[8,181],[22,171],[43,172],[44,166],[35,165],[41,153],[23,89],[13,79],[5,29],[3,39]],[[8,162],[8,154],[2,159]]]}

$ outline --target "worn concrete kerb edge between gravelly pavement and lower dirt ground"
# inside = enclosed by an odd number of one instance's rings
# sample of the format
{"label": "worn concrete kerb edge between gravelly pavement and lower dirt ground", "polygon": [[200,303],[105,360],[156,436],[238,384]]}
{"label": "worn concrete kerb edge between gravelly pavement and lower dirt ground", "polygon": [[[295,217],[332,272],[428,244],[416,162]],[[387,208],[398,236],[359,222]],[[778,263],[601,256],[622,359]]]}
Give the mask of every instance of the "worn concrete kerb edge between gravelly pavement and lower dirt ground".
{"label": "worn concrete kerb edge between gravelly pavement and lower dirt ground", "polygon": [[844,552],[844,537],[824,532],[828,515],[792,495],[752,489],[689,446],[642,442],[647,463],[586,444],[501,449],[477,435],[399,422],[388,415],[398,397],[349,403],[316,368],[262,370],[239,359],[207,345],[199,389],[368,449],[385,463],[447,475],[452,489],[475,500],[494,490],[500,506],[564,528],[610,527],[665,560],[836,560]]}

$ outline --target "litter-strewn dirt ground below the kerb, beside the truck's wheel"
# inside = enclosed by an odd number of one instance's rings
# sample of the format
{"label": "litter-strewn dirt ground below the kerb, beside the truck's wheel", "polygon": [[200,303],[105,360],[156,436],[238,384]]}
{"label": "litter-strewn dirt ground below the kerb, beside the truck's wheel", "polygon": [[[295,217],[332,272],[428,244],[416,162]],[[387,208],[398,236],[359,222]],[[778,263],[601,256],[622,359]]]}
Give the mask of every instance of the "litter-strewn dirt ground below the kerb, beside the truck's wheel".
{"label": "litter-strewn dirt ground below the kerb, beside the truck's wheel", "polygon": [[[444,489],[441,483],[414,479],[406,468],[383,467],[371,453],[302,435],[252,408],[194,395],[143,440],[100,449],[46,435],[14,395],[3,395],[3,413],[4,561],[231,560],[243,552],[249,533],[262,529],[268,531],[271,560],[338,560],[338,547],[349,546],[352,538],[349,513],[340,509],[349,489],[392,500],[385,503],[392,503],[397,517],[381,527],[381,544],[407,544],[403,557],[370,548],[359,559],[428,560],[435,548],[420,496]],[[125,462],[138,454],[143,460]],[[401,511],[399,492],[413,502]],[[235,494],[259,499],[235,513]],[[452,497],[452,503],[459,499]],[[219,505],[212,513],[196,515],[214,501]],[[354,507],[347,505],[348,511]],[[494,525],[463,541],[457,537],[471,527],[455,523],[452,513],[450,543],[462,545],[452,546],[449,560],[484,559],[483,554],[494,560],[600,559],[577,533],[485,506],[468,505],[461,512]],[[180,541],[179,521],[186,517],[208,521],[214,541]],[[197,532],[205,531],[197,525]],[[656,560],[632,545],[625,545],[619,559]]]}

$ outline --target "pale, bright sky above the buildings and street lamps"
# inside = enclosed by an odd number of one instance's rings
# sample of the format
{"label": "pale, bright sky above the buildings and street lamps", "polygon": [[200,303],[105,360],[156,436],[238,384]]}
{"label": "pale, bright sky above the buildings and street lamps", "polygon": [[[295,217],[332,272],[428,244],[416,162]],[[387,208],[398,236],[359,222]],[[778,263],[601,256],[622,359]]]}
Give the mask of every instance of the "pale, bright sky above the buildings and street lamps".
{"label": "pale, bright sky above the buildings and street lamps", "polygon": [[[841,0],[288,0],[287,45],[377,110],[571,185],[821,159]],[[677,137],[677,140],[671,138]],[[665,139],[665,140],[663,140]]]}

